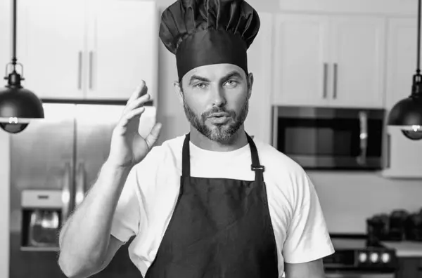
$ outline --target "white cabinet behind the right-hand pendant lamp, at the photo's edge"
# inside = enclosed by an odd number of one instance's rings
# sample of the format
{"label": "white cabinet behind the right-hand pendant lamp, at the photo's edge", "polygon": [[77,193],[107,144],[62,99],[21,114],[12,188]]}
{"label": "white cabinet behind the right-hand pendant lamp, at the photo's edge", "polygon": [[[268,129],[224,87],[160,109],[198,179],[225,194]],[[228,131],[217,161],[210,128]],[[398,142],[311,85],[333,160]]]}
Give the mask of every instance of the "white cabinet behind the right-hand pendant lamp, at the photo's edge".
{"label": "white cabinet behind the right-hand pendant lamp, at the photo's edge", "polygon": [[[416,72],[417,18],[388,20],[387,80],[385,108],[390,111],[399,100],[411,94]],[[388,178],[422,178],[422,144],[405,138],[398,127],[389,126],[385,140]]]}

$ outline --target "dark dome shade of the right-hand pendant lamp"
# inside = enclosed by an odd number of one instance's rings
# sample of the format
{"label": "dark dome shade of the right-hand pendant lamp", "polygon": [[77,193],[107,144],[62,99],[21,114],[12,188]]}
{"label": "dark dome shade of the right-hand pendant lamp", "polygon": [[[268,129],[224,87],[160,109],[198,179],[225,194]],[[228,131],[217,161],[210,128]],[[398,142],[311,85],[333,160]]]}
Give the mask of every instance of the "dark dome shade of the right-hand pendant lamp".
{"label": "dark dome shade of the right-hand pendant lamp", "polygon": [[422,98],[411,95],[397,102],[388,114],[389,126],[422,126]]}

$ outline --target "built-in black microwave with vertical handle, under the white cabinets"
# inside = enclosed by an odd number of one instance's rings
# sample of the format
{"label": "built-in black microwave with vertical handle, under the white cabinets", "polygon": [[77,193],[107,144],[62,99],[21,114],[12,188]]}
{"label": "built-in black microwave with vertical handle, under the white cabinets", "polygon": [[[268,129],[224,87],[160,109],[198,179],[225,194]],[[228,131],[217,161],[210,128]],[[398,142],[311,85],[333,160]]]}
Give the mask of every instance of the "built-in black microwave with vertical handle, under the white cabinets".
{"label": "built-in black microwave with vertical handle, under the white cabinets", "polygon": [[383,109],[274,106],[272,116],[271,144],[305,169],[383,167]]}

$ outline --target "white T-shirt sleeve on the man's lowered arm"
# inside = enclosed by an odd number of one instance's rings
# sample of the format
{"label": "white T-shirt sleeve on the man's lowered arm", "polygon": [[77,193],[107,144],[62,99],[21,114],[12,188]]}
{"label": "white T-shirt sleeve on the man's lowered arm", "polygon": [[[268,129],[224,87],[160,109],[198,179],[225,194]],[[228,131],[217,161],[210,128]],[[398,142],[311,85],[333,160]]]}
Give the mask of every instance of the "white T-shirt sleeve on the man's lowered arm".
{"label": "white T-shirt sleeve on the man's lowered arm", "polygon": [[302,171],[294,180],[293,217],[283,246],[286,263],[306,263],[334,253],[314,185]]}

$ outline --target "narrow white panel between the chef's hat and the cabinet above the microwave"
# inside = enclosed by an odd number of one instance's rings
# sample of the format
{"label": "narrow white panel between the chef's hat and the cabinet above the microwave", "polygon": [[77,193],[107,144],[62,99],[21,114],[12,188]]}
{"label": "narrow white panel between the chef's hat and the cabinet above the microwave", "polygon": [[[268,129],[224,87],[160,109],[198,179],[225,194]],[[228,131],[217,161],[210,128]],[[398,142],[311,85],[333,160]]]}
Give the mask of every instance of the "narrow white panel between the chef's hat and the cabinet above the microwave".
{"label": "narrow white panel between the chef's hat and the cabinet above the microwave", "polygon": [[252,72],[254,83],[249,100],[245,131],[255,138],[271,143],[271,48],[274,16],[260,13],[261,27],[255,41],[248,50],[248,71]]}

